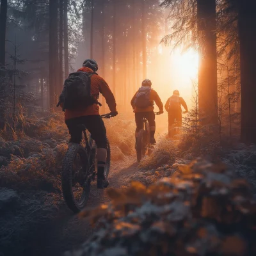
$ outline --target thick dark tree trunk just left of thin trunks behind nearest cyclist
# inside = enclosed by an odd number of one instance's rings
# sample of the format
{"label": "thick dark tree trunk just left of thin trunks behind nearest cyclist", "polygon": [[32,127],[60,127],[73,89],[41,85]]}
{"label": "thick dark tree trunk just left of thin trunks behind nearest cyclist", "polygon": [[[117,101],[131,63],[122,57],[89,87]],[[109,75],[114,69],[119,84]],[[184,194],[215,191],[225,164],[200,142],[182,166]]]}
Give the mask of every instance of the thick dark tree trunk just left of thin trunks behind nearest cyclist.
{"label": "thick dark tree trunk just left of thin trunks behind nearest cyclist", "polygon": [[55,108],[58,83],[58,2],[49,1],[49,87],[50,108]]}

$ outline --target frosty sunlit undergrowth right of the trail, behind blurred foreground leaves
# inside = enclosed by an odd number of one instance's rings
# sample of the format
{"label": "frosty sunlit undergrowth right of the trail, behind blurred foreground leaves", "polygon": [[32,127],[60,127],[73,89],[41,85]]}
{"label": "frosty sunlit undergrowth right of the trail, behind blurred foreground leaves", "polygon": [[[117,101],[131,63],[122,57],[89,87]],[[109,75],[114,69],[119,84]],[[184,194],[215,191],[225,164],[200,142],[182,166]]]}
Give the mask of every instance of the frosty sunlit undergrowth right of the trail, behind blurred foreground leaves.
{"label": "frosty sunlit undergrowth right of the trail, behind blurred foreground leaves", "polygon": [[138,175],[131,180],[152,184],[161,177],[169,177],[179,164],[188,164],[196,157],[204,157],[213,163],[226,163],[237,174],[253,184],[256,193],[256,147],[238,143],[237,138],[223,138],[212,132],[202,132],[197,136],[183,133],[172,140],[162,138],[150,157],[145,157],[139,165]]}

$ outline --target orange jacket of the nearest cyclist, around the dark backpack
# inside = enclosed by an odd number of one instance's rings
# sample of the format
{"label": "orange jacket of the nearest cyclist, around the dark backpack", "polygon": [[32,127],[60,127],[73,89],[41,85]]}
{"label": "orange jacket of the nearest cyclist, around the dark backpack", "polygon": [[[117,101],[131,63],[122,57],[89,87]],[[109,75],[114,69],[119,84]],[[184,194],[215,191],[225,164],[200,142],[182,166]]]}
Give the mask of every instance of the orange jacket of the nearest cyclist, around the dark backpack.
{"label": "orange jacket of the nearest cyclist, around the dark backpack", "polygon": [[[86,67],[79,68],[77,72],[79,71],[93,73],[93,70],[91,68],[86,68]],[[110,111],[115,112],[116,100],[113,93],[111,92],[106,81],[102,77],[95,74],[95,75],[92,75],[91,77],[91,95],[95,99],[98,99],[99,93],[102,93],[102,95],[105,97]],[[65,109],[65,120],[76,118],[79,116],[91,116],[91,115],[99,115],[99,105],[93,104],[86,108],[79,108],[79,109],[72,109],[72,110]]]}

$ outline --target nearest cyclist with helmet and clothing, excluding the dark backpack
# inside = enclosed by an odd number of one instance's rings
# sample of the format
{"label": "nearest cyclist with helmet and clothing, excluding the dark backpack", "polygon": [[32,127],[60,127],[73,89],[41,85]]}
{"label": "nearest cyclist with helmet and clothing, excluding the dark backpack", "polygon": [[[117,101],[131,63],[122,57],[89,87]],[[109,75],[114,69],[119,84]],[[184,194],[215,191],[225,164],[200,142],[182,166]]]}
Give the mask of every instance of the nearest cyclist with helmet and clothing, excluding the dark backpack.
{"label": "nearest cyclist with helmet and clothing, excluding the dark backpack", "polygon": [[[111,116],[118,115],[116,111],[116,100],[111,92],[106,81],[98,76],[96,73],[98,64],[95,60],[85,60],[83,67],[79,68],[77,72],[88,72],[91,76],[91,95],[95,102],[99,99],[99,93],[106,98],[106,102],[111,111]],[[84,108],[79,107],[76,109],[65,109],[65,123],[68,127],[71,136],[68,146],[73,143],[81,143],[82,131],[77,125],[83,124],[92,135],[93,140],[97,145],[97,188],[106,188],[109,185],[108,179],[104,177],[104,169],[107,157],[107,137],[106,127],[102,118],[99,115],[99,104],[93,103],[92,105]]]}

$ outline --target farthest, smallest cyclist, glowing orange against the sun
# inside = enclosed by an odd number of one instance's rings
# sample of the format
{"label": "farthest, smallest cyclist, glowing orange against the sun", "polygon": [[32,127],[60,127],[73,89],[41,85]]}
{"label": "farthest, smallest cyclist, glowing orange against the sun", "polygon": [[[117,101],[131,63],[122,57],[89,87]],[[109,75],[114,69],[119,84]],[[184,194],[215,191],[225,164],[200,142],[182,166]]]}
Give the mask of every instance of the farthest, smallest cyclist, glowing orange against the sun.
{"label": "farthest, smallest cyclist, glowing orange against the sun", "polygon": [[185,109],[184,113],[188,113],[188,106],[185,100],[180,97],[180,92],[178,90],[173,91],[172,97],[170,97],[164,106],[168,113],[168,132],[171,136],[172,125],[175,124],[177,127],[182,125],[182,109]]}

